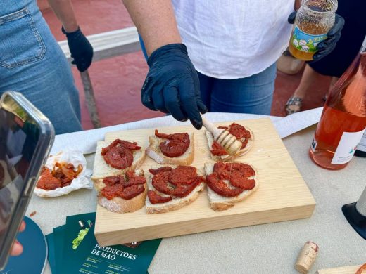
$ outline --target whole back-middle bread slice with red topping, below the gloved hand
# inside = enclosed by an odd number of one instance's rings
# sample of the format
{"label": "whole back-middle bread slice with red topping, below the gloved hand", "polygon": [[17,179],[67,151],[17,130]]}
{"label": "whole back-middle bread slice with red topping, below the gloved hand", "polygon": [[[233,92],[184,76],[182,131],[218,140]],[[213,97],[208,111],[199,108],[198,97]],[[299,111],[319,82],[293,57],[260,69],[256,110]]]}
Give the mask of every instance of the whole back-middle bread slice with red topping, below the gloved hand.
{"label": "whole back-middle bread slice with red topping, below the gloved hand", "polygon": [[194,133],[159,133],[149,136],[146,154],[158,164],[189,165],[194,160]]}

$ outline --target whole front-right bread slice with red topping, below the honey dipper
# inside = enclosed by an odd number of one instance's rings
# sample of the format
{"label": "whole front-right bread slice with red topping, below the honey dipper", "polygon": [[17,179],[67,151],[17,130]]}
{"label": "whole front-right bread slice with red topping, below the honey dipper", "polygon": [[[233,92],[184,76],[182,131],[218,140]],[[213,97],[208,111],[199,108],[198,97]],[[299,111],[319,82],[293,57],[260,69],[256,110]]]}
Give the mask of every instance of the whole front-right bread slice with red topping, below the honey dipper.
{"label": "whole front-right bread slice with red topping, below the honey dipper", "polygon": [[258,172],[243,162],[205,164],[208,200],[215,211],[229,209],[258,189]]}

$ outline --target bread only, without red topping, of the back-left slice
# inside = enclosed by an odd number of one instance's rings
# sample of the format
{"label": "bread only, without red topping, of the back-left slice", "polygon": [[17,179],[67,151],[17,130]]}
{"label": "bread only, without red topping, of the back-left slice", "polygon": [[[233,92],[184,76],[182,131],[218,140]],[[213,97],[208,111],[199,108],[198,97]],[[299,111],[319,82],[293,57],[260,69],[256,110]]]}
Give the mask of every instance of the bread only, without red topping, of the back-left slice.
{"label": "bread only, without red topping, of the back-left slice", "polygon": [[[133,152],[134,155],[134,161],[132,162],[131,167],[128,167],[127,169],[115,169],[114,167],[111,167],[109,164],[106,163],[103,156],[101,155],[101,149],[105,148],[109,143],[107,144],[105,141],[98,141],[96,143],[96,152],[95,152],[95,158],[94,158],[94,169],[93,169],[93,176],[92,180],[95,184],[100,183],[100,179],[102,179],[108,176],[117,176],[121,174],[125,174],[127,170],[135,170],[138,169],[141,164],[144,162],[145,159],[145,150],[141,147],[140,150],[136,150]],[[139,145],[141,146],[141,145]],[[99,187],[96,187],[99,188]]]}

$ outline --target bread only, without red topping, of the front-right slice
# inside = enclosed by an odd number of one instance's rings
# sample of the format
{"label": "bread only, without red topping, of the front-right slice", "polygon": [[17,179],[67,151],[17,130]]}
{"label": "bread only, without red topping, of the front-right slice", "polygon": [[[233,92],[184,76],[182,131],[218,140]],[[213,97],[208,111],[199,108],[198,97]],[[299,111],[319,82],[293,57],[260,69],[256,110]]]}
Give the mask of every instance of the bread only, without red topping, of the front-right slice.
{"label": "bread only, without red topping, of the front-right slice", "polygon": [[[214,164],[215,163],[206,163],[205,164],[206,176],[213,173]],[[244,163],[244,164],[248,164],[248,163]],[[208,200],[210,201],[211,209],[213,209],[215,211],[229,209],[230,207],[233,207],[236,202],[241,202],[246,197],[251,195],[255,190],[257,190],[258,185],[259,185],[258,184],[258,171],[256,171],[255,168],[251,164],[248,164],[248,165],[250,165],[255,171],[255,176],[249,177],[249,178],[255,180],[254,188],[251,190],[244,190],[242,193],[240,193],[239,195],[237,195],[235,197],[224,197],[224,196],[221,196],[221,195],[215,193],[215,191],[213,191],[212,189],[207,187]]]}

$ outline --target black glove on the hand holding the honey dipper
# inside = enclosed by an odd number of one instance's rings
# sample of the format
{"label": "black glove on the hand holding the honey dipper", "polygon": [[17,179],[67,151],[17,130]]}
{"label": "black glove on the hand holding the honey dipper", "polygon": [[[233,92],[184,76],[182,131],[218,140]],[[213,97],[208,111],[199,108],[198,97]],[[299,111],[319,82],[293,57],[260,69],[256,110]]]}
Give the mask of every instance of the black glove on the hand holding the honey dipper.
{"label": "black glove on the hand holding the honey dipper", "polygon": [[207,112],[200,96],[199,79],[184,44],[169,44],[151,53],[150,67],[141,89],[142,103],[151,110],[170,113],[178,121],[189,119],[201,129]]}

